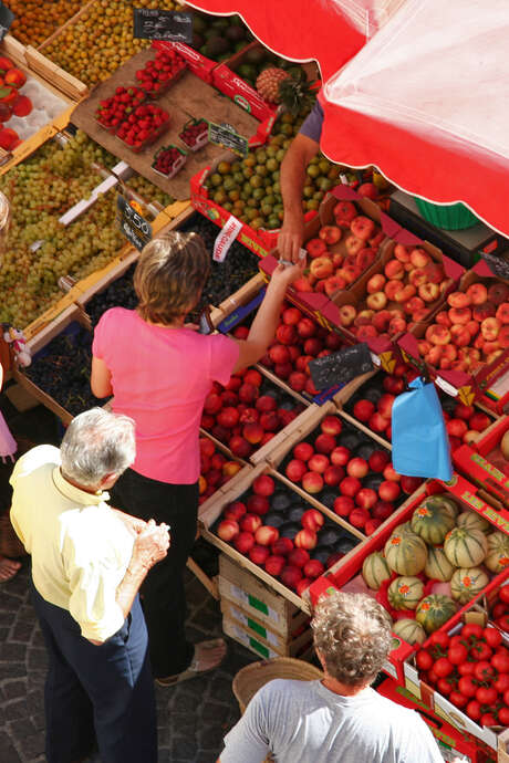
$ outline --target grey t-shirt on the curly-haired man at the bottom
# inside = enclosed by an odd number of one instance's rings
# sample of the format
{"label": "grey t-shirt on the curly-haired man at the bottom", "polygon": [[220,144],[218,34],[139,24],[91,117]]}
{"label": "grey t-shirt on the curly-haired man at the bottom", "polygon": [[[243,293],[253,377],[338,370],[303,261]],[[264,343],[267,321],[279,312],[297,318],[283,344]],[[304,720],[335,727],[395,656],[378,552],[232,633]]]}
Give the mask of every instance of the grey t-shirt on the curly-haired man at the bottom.
{"label": "grey t-shirt on the curly-haired man at the bottom", "polygon": [[221,763],[444,763],[419,715],[364,689],[342,697],[320,681],[262,687],[225,738]]}

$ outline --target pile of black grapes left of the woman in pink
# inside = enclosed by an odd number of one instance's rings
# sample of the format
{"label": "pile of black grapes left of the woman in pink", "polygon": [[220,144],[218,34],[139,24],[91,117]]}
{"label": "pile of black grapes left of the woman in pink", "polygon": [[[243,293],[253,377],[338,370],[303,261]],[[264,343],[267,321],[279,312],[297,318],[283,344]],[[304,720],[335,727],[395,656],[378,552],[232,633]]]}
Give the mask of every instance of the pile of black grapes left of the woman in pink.
{"label": "pile of black grapes left of the woman in pink", "polygon": [[62,408],[76,416],[106,401],[92,395],[91,363],[92,334],[77,324],[71,324],[32,358],[24,373]]}

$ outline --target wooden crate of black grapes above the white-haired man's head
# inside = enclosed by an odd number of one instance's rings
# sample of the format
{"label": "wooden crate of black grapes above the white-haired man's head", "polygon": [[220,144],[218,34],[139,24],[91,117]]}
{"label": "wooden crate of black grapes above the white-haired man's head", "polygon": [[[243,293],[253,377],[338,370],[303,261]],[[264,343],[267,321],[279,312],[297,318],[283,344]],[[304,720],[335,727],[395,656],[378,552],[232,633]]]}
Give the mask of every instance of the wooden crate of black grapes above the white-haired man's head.
{"label": "wooden crate of black grapes above the white-haired man's head", "polygon": [[80,310],[70,309],[50,331],[40,332],[31,341],[30,366],[14,373],[17,382],[64,426],[83,410],[105,403],[90,387],[92,338]]}

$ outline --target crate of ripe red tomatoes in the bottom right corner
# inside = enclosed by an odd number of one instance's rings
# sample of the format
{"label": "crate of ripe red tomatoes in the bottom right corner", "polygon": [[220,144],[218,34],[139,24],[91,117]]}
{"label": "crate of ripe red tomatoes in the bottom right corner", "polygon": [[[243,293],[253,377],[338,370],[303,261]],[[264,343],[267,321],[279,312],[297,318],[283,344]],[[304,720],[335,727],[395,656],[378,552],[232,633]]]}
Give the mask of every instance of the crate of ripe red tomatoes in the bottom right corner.
{"label": "crate of ripe red tomatoes in the bottom right corner", "polygon": [[[405,686],[427,707],[508,760],[509,569],[497,575],[404,662]],[[502,756],[500,756],[502,754]]]}

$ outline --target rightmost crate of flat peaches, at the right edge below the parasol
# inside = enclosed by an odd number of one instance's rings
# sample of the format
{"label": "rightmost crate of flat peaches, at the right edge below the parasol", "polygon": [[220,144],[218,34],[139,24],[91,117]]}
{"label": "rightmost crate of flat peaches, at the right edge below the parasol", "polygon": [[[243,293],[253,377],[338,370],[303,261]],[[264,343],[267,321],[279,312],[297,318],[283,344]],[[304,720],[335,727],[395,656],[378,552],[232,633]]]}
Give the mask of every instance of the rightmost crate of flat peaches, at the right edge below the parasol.
{"label": "rightmost crate of flat peaches, at the right edge below the parasol", "polygon": [[456,388],[470,385],[479,394],[507,369],[509,285],[479,261],[414,334],[398,341],[409,363],[424,362]]}

